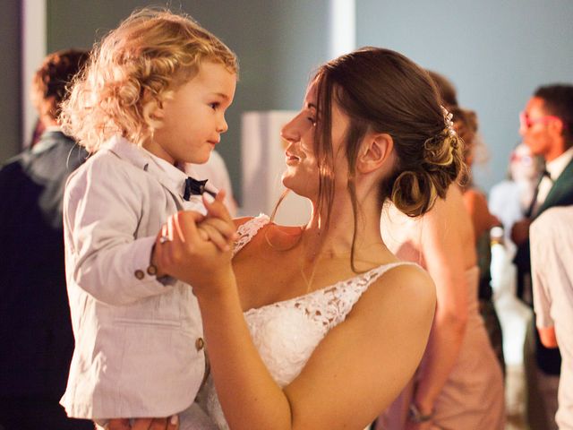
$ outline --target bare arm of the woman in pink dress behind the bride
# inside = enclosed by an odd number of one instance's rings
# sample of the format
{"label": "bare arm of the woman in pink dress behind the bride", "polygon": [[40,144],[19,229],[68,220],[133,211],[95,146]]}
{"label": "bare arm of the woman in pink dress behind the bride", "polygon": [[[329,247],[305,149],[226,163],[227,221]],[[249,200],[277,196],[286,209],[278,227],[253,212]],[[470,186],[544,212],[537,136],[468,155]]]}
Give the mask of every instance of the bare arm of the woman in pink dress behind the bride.
{"label": "bare arm of the woman in pink dress behind the bride", "polygon": [[[423,219],[423,258],[436,284],[438,297],[414,397],[415,405],[423,415],[432,412],[433,403],[456,363],[466,332],[468,293],[465,271],[468,252],[464,249],[464,222],[468,224],[469,217],[461,195],[454,187],[450,187],[446,200],[436,202]],[[473,241],[468,243],[474,246]]]}

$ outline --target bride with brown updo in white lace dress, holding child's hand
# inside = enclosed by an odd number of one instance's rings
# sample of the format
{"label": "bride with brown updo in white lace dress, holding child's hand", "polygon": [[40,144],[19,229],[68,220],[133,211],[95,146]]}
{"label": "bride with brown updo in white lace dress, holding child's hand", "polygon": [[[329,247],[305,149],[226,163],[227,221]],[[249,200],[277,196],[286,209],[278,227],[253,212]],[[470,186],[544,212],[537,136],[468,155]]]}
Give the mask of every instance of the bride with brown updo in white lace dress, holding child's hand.
{"label": "bride with brown updo in white lace dress, holding child's hand", "polygon": [[234,249],[221,251],[218,223],[232,220],[220,197],[207,203],[217,222],[193,212],[168,220],[154,262],[199,300],[205,408],[219,428],[362,429],[412,377],[435,290],[384,245],[380,213],[389,199],[422,215],[458,177],[461,147],[444,115],[429,76],[405,56],[373,47],[341,56],[320,67],[282,130],[283,183],[312,202],[306,226],[239,219]]}

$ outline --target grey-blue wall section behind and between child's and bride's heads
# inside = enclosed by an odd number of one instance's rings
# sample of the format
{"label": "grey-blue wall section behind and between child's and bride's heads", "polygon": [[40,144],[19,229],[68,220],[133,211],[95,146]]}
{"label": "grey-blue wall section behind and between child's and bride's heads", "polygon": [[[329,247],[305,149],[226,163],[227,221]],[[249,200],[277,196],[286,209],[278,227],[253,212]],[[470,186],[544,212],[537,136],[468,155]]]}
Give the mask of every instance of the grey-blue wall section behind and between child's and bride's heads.
{"label": "grey-blue wall section behind and between child's and bride's heads", "polygon": [[[133,9],[161,2],[48,0],[48,51],[91,47]],[[165,5],[166,2],[163,2]],[[300,107],[310,72],[326,61],[329,0],[186,0],[169,2],[191,14],[239,56],[240,81],[227,114],[229,131],[218,151],[241,198],[241,114]]]}

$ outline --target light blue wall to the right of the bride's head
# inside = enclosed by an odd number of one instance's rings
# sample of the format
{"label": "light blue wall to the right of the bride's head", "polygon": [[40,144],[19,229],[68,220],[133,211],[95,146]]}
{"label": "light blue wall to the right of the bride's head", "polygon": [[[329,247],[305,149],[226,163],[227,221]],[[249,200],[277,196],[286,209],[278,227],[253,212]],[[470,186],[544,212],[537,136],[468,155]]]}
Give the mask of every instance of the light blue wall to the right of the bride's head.
{"label": "light blue wall to the right of the bride's head", "polygon": [[356,0],[356,42],[396,49],[454,82],[490,151],[475,168],[484,190],[505,176],[535,88],[573,83],[570,0]]}

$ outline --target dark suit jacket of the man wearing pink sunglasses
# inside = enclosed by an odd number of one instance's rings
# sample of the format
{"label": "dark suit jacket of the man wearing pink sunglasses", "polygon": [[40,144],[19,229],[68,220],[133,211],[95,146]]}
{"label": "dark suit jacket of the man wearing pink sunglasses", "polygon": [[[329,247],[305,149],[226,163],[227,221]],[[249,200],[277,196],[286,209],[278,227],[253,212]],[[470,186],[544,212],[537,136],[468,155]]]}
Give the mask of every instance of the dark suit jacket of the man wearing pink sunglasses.
{"label": "dark suit jacket of the man wearing pink sunglasses", "polygon": [[[553,183],[552,189],[547,194],[545,201],[539,207],[533,219],[536,219],[543,211],[556,206],[569,206],[573,204],[573,159],[561,172],[560,176]],[[531,279],[531,254],[529,248],[529,239],[517,247],[517,253],[514,258],[517,266],[517,283],[523,285],[525,279]],[[531,287],[531,284],[529,284]],[[523,287],[520,288],[523,290]],[[532,293],[533,295],[533,293]],[[535,318],[534,318],[535,325]],[[545,348],[539,339],[539,333],[534,330],[536,338],[536,359],[537,365],[548,374],[560,374],[561,357],[559,349]]]}

